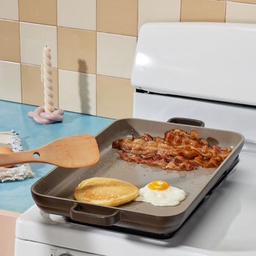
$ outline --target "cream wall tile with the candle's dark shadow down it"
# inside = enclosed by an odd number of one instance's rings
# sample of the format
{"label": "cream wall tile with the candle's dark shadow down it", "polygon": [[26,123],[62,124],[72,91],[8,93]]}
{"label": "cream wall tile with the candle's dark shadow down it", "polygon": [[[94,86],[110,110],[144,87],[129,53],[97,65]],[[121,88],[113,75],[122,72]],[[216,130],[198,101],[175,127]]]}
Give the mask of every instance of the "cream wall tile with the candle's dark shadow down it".
{"label": "cream wall tile with the candle's dark shadow down it", "polygon": [[96,115],[96,75],[59,69],[59,108]]}

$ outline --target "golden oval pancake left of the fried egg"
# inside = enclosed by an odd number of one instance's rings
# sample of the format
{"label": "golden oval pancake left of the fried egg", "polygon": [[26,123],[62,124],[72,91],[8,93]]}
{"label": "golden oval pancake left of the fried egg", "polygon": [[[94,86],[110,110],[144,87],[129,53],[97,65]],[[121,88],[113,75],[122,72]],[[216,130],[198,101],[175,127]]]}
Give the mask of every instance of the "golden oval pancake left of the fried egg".
{"label": "golden oval pancake left of the fried egg", "polygon": [[75,188],[75,200],[100,206],[119,206],[134,200],[139,195],[138,187],[116,178],[88,178]]}

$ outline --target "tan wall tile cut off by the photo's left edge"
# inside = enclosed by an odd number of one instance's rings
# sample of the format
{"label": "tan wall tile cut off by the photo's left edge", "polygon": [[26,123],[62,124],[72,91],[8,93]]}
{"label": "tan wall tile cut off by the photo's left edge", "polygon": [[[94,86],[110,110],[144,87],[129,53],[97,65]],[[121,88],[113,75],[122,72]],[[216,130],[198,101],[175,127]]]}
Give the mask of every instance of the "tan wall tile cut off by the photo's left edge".
{"label": "tan wall tile cut off by the photo's left edge", "polygon": [[20,62],[19,23],[0,20],[0,59]]}

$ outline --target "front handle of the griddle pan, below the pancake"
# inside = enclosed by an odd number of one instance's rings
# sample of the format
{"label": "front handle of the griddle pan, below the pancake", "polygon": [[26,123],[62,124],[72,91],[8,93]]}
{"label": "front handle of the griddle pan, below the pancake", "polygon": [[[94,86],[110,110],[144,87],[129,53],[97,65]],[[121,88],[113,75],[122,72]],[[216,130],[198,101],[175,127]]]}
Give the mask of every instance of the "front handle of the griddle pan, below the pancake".
{"label": "front handle of the griddle pan, below the pancake", "polygon": [[[96,206],[97,207],[97,206]],[[93,214],[86,211],[79,203],[75,203],[70,208],[70,218],[75,222],[83,222],[86,224],[100,225],[100,226],[112,226],[121,220],[121,213],[113,209],[110,214]]]}

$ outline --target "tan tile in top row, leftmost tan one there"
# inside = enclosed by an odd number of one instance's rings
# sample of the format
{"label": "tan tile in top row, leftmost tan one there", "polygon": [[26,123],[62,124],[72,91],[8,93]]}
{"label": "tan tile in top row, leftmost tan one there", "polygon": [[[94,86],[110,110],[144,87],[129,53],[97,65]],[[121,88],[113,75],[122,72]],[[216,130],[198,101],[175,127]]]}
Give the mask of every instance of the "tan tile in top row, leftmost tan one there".
{"label": "tan tile in top row, leftmost tan one there", "polygon": [[19,0],[20,21],[57,24],[57,0]]}

